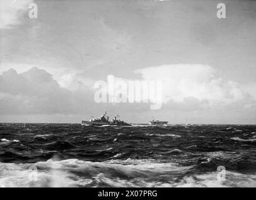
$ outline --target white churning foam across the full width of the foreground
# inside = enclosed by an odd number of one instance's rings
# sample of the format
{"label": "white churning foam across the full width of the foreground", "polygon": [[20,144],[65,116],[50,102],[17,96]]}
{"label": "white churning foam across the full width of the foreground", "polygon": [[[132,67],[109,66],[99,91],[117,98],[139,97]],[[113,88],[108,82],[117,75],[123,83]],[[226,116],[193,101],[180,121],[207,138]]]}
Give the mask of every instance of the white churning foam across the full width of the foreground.
{"label": "white churning foam across the full width of the foreground", "polygon": [[[226,181],[218,181],[218,172],[188,173],[190,167],[152,160],[110,160],[105,162],[68,159],[31,164],[0,163],[0,185],[4,187],[255,187],[255,174],[226,171]],[[31,174],[34,179],[31,180]],[[36,175],[35,175],[36,173]],[[35,179],[36,177],[36,179]]]}

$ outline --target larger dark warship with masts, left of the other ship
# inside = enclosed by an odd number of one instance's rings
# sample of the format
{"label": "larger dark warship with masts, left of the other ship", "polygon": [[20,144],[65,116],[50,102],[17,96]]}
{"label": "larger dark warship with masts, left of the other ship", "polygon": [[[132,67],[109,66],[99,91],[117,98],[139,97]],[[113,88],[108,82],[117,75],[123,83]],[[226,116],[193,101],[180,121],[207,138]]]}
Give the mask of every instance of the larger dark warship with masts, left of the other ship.
{"label": "larger dark warship with masts, left of the other ship", "polygon": [[104,125],[116,125],[116,126],[131,126],[129,123],[125,123],[125,121],[122,121],[119,118],[119,115],[115,116],[114,119],[109,120],[109,116],[107,116],[107,113],[105,112],[96,119],[91,119],[90,121],[82,121],[82,126],[104,126]]}

